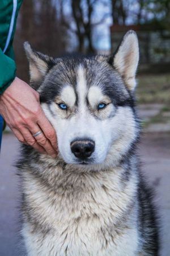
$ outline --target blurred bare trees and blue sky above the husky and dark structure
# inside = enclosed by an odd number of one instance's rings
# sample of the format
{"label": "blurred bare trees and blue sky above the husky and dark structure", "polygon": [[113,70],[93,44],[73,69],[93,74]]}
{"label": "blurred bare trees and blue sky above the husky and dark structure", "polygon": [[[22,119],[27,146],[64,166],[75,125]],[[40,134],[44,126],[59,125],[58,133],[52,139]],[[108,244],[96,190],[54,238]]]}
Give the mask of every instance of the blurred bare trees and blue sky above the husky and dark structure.
{"label": "blurred bare trees and blue sky above the husky and dark structure", "polygon": [[105,36],[100,27],[107,30],[111,24],[156,24],[170,30],[170,1],[24,0],[16,44],[29,40],[51,55],[96,53],[96,39]]}

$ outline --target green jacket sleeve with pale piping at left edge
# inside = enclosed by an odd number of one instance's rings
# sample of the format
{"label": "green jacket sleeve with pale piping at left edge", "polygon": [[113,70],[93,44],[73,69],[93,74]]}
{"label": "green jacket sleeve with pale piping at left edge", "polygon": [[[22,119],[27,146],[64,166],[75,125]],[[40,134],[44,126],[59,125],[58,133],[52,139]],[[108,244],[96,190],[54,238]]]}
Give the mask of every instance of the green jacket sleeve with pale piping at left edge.
{"label": "green jacket sleeve with pale piping at left edge", "polygon": [[0,0],[0,94],[15,78],[12,42],[16,18],[23,0]]}

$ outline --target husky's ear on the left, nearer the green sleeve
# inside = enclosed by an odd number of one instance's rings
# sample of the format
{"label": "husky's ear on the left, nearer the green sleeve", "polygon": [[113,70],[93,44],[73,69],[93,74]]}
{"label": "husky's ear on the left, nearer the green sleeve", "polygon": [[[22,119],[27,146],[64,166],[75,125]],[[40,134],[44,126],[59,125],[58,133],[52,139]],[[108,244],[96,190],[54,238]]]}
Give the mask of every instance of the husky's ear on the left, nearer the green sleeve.
{"label": "husky's ear on the left, nearer the green sleeve", "polygon": [[49,69],[53,67],[54,60],[48,55],[33,50],[28,42],[24,43],[25,53],[29,61],[29,75],[31,86],[38,89]]}

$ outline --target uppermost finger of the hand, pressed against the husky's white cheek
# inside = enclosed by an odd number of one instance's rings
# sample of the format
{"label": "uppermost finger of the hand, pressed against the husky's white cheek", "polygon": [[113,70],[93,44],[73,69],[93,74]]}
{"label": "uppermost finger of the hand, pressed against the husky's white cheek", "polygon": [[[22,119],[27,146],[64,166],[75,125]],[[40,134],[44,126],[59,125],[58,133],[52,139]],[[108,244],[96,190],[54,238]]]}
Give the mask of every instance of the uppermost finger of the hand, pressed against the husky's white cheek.
{"label": "uppermost finger of the hand, pressed against the husky's white cheek", "polygon": [[41,130],[43,131],[45,137],[49,139],[54,150],[58,151],[56,131],[54,130],[48,119],[45,117],[45,114],[43,112],[37,120],[37,123],[41,127]]}

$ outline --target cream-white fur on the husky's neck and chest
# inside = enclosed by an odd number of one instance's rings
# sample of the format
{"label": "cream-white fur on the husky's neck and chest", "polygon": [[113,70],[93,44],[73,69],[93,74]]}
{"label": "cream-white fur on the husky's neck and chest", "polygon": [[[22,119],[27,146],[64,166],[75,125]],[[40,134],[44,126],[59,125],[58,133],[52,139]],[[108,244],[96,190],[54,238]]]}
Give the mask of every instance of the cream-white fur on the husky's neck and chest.
{"label": "cream-white fur on the husky's neck and chest", "polygon": [[[135,232],[132,214],[136,210],[135,156],[129,157],[129,161],[126,159],[126,164],[122,162],[117,167],[98,172],[85,172],[82,168],[63,162],[55,166],[53,159],[47,161],[42,156],[39,161],[41,164],[32,161],[30,165],[26,164],[25,171],[22,169],[24,217],[27,223],[23,232],[35,232],[36,236],[39,232],[44,236],[52,235],[58,240],[55,250],[61,253],[59,255],[65,255],[66,248],[74,247],[73,243],[81,243],[86,233],[88,241],[84,241],[86,248],[83,255],[92,251],[91,243],[96,243],[93,255],[100,255],[101,246],[106,253],[102,255],[112,255],[114,243],[120,241],[119,236],[128,241],[127,230]],[[84,233],[80,232],[81,229]],[[95,241],[94,237],[99,241]],[[131,242],[128,243],[131,247]],[[78,245],[73,250],[73,254],[69,255],[82,255],[82,246]],[[121,254],[117,252],[115,255]]]}

